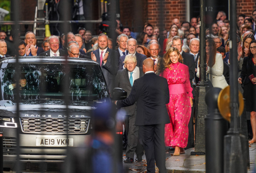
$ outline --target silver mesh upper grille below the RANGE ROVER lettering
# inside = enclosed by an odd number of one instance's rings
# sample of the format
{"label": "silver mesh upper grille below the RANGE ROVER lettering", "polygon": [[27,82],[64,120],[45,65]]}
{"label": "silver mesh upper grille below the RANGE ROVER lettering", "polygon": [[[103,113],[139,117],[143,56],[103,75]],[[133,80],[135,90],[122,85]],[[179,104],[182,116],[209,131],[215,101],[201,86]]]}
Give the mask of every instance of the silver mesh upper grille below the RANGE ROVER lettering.
{"label": "silver mesh upper grille below the RANGE ROVER lettering", "polygon": [[90,119],[20,118],[25,133],[87,133]]}

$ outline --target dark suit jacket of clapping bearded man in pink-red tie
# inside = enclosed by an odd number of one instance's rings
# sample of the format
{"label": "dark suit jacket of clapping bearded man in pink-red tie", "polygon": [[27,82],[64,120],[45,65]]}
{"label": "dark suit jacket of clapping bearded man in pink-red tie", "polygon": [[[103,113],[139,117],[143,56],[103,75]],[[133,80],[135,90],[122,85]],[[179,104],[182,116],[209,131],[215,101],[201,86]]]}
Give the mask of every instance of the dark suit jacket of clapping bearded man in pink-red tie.
{"label": "dark suit jacket of clapping bearded man in pink-red tie", "polygon": [[[100,52],[99,49],[92,51],[96,56],[96,62],[100,64]],[[114,80],[117,73],[118,67],[118,55],[117,52],[113,49],[107,49],[106,52],[109,52],[107,63],[103,65],[101,64],[101,70],[107,82],[108,90],[111,93],[114,88]]]}

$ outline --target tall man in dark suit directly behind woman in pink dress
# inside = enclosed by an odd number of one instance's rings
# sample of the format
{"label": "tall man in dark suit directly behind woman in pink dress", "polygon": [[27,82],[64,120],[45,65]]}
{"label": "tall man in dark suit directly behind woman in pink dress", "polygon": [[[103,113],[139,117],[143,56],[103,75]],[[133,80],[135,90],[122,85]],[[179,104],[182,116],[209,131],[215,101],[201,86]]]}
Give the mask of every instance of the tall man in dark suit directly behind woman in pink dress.
{"label": "tall man in dark suit directly behind woman in pink dress", "polygon": [[[192,83],[192,80],[195,78],[195,59],[194,56],[186,53],[182,50],[182,46],[183,46],[183,41],[182,38],[180,38],[179,36],[174,36],[172,38],[172,47],[177,48],[180,51],[180,54],[183,58],[183,64],[188,66],[188,72],[189,72],[189,81],[190,81],[190,86],[193,88],[192,90],[192,94],[193,94],[193,105],[195,105],[195,96],[196,96],[196,91],[195,91],[195,87]],[[190,120],[189,120],[189,129],[188,129],[188,138],[190,139],[188,142],[188,145],[186,148],[192,148],[194,147],[194,127],[193,126],[193,119],[192,117],[194,117],[194,113],[195,113],[195,106],[192,106],[191,108],[191,116],[190,116]]]}

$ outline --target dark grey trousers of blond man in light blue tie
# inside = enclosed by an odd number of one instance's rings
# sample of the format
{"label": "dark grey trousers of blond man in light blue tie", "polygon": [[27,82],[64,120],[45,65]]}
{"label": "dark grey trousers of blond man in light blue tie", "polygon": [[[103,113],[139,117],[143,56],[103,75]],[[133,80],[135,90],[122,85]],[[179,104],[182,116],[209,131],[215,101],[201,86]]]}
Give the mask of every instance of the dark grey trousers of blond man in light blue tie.
{"label": "dark grey trousers of blond man in light blue tie", "polygon": [[133,115],[125,116],[124,127],[127,133],[127,149],[126,149],[126,157],[130,157],[133,159],[134,152],[138,155],[143,154],[143,147],[139,142],[139,126],[135,125],[136,119],[136,111]]}

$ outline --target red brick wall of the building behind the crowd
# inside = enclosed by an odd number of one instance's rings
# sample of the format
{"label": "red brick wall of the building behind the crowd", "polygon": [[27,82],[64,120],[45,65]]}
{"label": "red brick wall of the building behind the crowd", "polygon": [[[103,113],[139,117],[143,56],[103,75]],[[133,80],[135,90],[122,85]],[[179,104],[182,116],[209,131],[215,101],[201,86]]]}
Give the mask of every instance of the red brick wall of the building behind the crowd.
{"label": "red brick wall of the building behind the crowd", "polygon": [[[164,27],[168,30],[172,25],[172,19],[178,18],[180,19],[180,22],[186,20],[186,0],[142,1],[143,3],[140,11],[143,11],[143,20],[141,20],[141,24],[139,24],[140,26],[145,22],[149,22],[153,26]],[[123,23],[127,23],[128,26],[132,26],[132,19],[134,18],[133,16],[129,16],[129,14],[134,14],[133,8],[138,5],[139,4],[136,5],[136,1],[134,0],[120,0],[120,16]],[[251,15],[252,11],[256,9],[256,0],[236,0],[236,6],[237,18],[241,13]],[[127,8],[129,8],[129,10],[127,10]]]}

